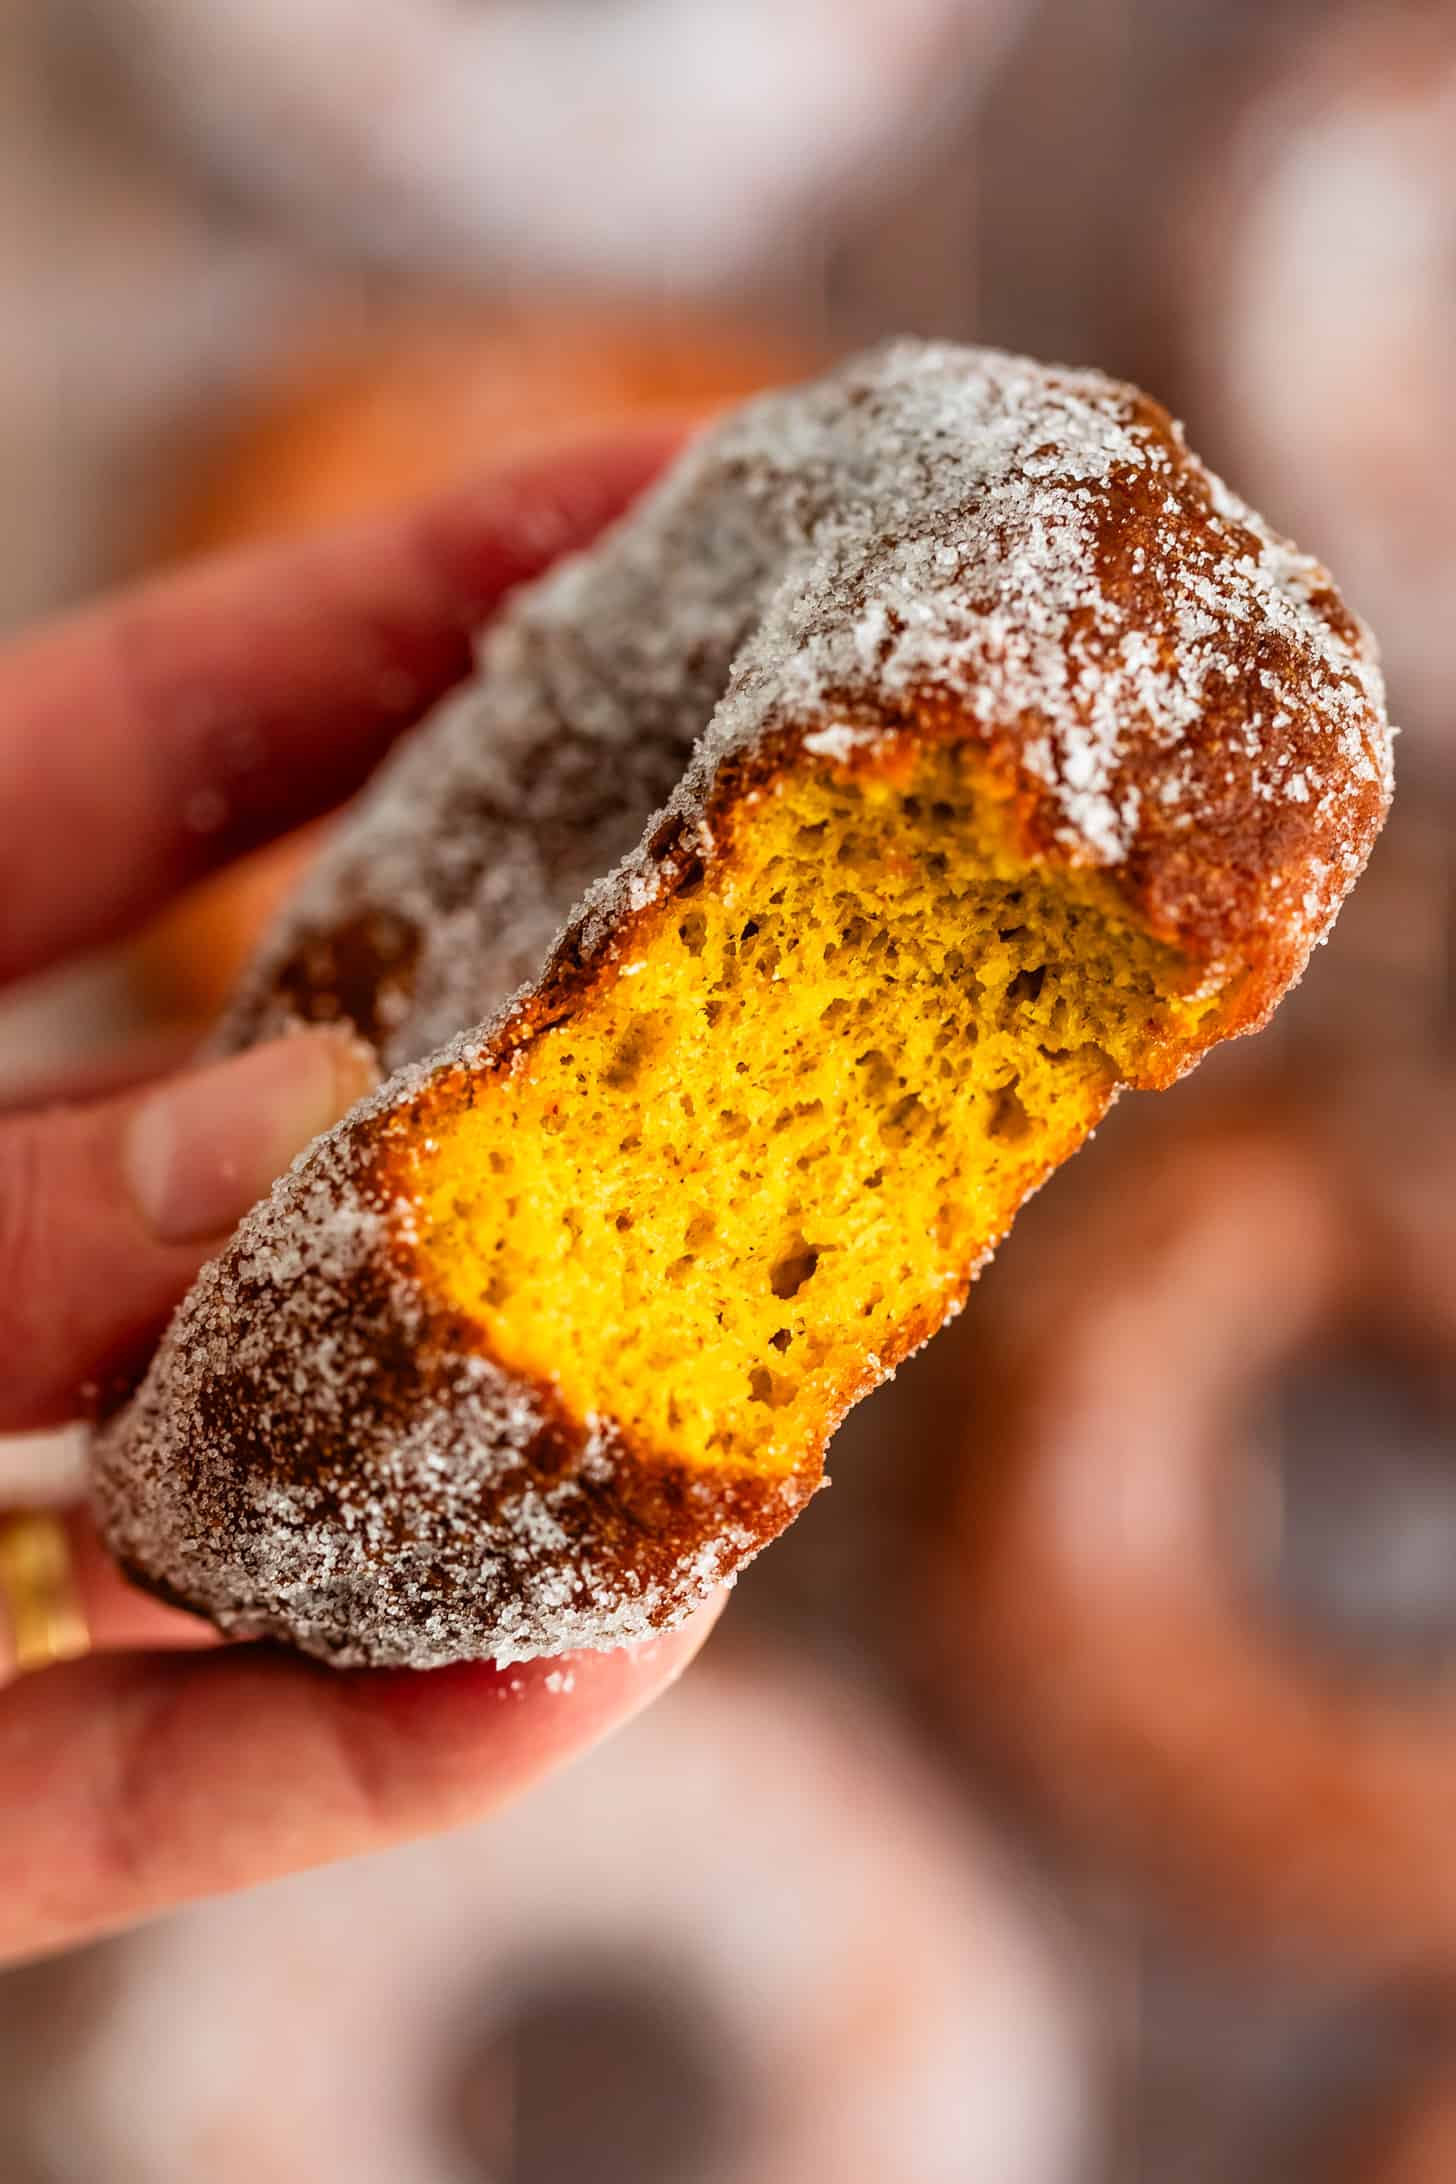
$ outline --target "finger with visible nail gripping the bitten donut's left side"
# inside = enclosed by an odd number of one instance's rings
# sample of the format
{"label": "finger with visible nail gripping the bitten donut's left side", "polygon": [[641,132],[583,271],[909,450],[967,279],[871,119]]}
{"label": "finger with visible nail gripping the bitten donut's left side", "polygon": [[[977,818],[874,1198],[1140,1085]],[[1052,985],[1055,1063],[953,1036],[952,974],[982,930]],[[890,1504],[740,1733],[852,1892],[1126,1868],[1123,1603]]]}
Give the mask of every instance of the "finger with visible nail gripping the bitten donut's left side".
{"label": "finger with visible nail gripping the bitten donut's left side", "polygon": [[373,1081],[347,1040],[255,1046],[142,1096],[0,1123],[0,1433],[124,1376],[201,1262]]}

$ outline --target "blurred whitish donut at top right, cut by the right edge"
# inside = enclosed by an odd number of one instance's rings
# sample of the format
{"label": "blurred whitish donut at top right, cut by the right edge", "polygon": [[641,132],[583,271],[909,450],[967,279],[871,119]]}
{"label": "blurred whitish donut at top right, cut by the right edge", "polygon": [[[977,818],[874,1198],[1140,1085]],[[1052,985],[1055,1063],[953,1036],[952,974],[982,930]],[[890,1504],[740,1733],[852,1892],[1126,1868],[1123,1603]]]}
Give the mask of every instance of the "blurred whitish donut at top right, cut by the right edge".
{"label": "blurred whitish donut at top right, cut by the right edge", "polygon": [[1456,762],[1456,44],[1443,7],[1316,11],[1220,116],[1179,229],[1190,402],[1380,629],[1412,751]]}

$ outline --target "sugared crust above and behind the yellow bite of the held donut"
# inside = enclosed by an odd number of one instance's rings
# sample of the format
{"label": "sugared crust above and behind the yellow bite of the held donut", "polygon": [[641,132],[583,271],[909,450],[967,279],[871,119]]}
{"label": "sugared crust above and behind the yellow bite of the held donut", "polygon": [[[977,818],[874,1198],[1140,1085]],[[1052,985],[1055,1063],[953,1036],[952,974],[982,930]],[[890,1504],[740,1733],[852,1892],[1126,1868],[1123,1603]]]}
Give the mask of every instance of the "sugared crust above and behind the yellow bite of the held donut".
{"label": "sugared crust above and behind the yellow bite of the held donut", "polygon": [[[701,815],[733,751],[810,723],[843,756],[934,697],[1011,743],[1050,841],[1105,867],[1286,799],[1336,847],[1388,793],[1369,633],[1157,404],[895,343],[747,404],[515,601],[325,852],[236,1033],[358,1011],[332,937],[358,954],[375,919],[389,978],[362,1029],[386,1066],[423,1059],[539,972],[659,806]],[[1327,863],[1316,917],[1353,876]],[[642,854],[594,906],[653,891]]]}

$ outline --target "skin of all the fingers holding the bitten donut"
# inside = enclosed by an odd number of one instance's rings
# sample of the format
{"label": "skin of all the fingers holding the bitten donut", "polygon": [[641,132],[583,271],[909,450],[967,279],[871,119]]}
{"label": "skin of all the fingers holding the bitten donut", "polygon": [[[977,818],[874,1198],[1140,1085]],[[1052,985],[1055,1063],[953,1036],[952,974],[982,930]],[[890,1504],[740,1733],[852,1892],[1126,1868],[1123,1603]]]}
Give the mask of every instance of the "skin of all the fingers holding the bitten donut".
{"label": "skin of all the fingers holding the bitten donut", "polygon": [[[502,594],[618,515],[670,446],[640,435],[229,557],[0,651],[0,983],[118,937],[349,795],[467,673]],[[214,1166],[236,1153],[262,1188],[297,1151],[268,1138],[279,1112],[312,1114],[310,1136],[332,1118],[314,1109],[358,1094],[358,1057],[301,1044],[312,1107],[240,1101],[236,1077],[227,1099],[234,1072],[258,1085],[277,1055],[196,1075],[192,1133],[214,1101]],[[175,1221],[159,1236],[138,1201],[127,1147],[172,1066],[109,1059],[0,1114],[0,1435],[83,1417],[225,1236],[179,1241]],[[670,1684],[720,1607],[570,1664],[336,1675],[220,1647],[133,1592],[83,1511],[68,1529],[94,1651],[15,1677],[0,1616],[0,1961],[476,1819]]]}

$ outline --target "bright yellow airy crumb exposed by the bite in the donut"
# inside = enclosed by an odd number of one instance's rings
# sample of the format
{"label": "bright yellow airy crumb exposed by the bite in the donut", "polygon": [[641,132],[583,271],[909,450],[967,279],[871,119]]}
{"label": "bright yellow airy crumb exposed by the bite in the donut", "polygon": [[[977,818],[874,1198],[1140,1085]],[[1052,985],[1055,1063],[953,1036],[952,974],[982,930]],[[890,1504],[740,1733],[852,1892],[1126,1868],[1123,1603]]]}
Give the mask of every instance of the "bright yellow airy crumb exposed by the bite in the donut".
{"label": "bright yellow airy crumb exposed by the bite in the donut", "polygon": [[441,1099],[417,1249],[578,1420],[788,1474],[1115,1083],[1201,1044],[1192,987],[1102,878],[1011,847],[965,749],[786,773],[690,915],[644,913],[568,1022]]}

